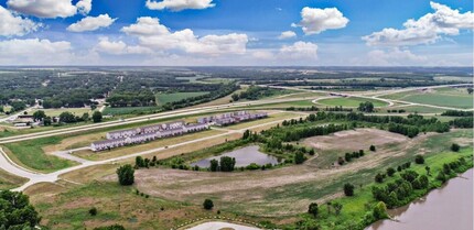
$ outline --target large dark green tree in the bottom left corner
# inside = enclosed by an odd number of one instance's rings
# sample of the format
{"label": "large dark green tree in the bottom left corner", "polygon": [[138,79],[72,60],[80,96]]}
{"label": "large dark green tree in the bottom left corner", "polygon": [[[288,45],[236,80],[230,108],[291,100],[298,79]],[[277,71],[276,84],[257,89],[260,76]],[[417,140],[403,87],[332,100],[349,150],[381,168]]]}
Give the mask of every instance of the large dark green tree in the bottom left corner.
{"label": "large dark green tree in the bottom left corner", "polygon": [[0,229],[33,229],[40,220],[26,195],[0,191]]}

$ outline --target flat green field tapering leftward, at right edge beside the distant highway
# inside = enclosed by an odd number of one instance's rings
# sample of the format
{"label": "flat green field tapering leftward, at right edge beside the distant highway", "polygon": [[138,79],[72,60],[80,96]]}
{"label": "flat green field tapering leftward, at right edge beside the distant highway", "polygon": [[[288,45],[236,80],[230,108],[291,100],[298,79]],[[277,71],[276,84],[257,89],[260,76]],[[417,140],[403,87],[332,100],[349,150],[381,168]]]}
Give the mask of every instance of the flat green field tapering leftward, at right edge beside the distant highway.
{"label": "flat green field tapering leftward, at right edge beside the distant highway", "polygon": [[381,98],[461,109],[473,108],[473,95],[465,88],[438,88],[386,95]]}

